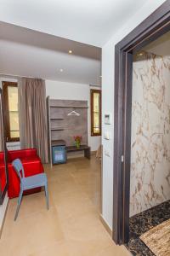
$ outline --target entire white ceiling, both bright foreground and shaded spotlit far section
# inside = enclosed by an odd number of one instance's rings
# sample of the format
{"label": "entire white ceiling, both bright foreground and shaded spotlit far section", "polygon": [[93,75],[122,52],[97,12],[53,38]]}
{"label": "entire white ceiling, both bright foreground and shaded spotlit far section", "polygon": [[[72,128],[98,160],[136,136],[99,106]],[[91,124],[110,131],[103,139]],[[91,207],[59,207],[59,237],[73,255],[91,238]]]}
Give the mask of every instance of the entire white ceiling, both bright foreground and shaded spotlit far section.
{"label": "entire white ceiling, both bright foreground and shaded spotlit far section", "polygon": [[100,85],[99,47],[148,1],[0,0],[0,73]]}

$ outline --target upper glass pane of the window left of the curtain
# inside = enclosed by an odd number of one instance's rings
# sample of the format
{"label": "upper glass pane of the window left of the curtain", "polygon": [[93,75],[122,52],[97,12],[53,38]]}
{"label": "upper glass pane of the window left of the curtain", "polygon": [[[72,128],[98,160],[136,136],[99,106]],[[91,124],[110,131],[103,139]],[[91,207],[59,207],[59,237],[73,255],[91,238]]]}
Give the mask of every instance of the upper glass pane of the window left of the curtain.
{"label": "upper glass pane of the window left of the curtain", "polygon": [[18,111],[18,87],[8,86],[8,110]]}

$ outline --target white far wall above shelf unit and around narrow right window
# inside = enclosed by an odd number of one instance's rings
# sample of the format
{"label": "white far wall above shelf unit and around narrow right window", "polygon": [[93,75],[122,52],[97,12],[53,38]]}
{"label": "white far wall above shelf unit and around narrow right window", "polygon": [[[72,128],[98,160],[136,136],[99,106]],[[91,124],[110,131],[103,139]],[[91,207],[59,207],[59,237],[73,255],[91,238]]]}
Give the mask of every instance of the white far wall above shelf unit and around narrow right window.
{"label": "white far wall above shelf unit and around narrow right window", "polygon": [[[73,84],[46,80],[46,96],[51,99],[88,101],[88,143],[92,151],[99,148],[101,137],[90,136],[90,87],[88,84]],[[95,87],[96,89],[96,87]],[[98,89],[98,88],[97,88]],[[100,89],[100,88],[99,88]]]}

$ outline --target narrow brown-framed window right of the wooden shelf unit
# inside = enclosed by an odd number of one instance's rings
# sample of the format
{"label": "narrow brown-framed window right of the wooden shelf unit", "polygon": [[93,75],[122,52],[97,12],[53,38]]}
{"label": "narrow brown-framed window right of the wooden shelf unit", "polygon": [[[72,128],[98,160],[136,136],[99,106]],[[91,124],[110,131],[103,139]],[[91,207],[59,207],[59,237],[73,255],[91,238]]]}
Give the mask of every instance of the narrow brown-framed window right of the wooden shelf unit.
{"label": "narrow brown-framed window right of the wooden shelf unit", "polygon": [[101,90],[91,90],[91,136],[101,135]]}

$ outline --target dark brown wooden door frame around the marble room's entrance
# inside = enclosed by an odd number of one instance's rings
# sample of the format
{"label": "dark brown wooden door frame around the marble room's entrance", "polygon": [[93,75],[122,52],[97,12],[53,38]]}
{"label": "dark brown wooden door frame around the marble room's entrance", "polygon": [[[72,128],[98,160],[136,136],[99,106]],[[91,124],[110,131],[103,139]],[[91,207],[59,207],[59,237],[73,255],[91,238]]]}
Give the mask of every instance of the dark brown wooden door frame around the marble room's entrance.
{"label": "dark brown wooden door frame around the marble room's entrance", "polygon": [[113,240],[129,239],[133,53],[170,31],[170,0],[115,47]]}

